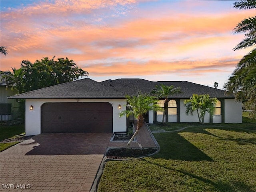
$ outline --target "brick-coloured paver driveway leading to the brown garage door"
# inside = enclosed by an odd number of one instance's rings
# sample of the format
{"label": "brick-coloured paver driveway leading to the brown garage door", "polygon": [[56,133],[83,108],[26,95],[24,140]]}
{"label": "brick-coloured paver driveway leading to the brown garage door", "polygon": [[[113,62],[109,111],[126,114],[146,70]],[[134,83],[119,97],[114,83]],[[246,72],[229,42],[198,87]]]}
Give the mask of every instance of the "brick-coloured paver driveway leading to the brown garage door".
{"label": "brick-coloured paver driveway leading to the brown garage door", "polygon": [[13,146],[0,154],[0,191],[88,192],[111,136],[40,134]]}

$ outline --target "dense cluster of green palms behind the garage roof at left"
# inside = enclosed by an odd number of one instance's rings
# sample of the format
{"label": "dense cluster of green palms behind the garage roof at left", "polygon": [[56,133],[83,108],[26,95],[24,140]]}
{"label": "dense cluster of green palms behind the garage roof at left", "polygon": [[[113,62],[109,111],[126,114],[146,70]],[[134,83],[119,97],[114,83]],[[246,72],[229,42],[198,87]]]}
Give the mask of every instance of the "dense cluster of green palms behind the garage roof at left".
{"label": "dense cluster of green palms behind the garage roof at left", "polygon": [[73,60],[66,58],[52,59],[44,57],[31,63],[23,60],[20,68],[12,68],[2,73],[6,86],[15,94],[20,94],[48,86],[78,80],[88,76],[88,72],[79,68]]}

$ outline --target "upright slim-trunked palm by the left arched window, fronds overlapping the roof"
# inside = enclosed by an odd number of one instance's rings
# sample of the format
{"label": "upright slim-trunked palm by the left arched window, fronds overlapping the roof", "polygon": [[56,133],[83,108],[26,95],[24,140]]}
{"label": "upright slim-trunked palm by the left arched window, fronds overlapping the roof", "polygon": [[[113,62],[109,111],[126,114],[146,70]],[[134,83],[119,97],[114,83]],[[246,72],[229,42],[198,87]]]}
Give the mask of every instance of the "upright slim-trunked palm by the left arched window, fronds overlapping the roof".
{"label": "upright slim-trunked palm by the left arched window, fronds overlapping the roof", "polygon": [[166,86],[164,84],[161,84],[160,86],[156,85],[154,89],[150,92],[151,94],[155,94],[158,98],[164,98],[164,114],[163,114],[163,122],[164,122],[164,116],[166,116],[166,122],[168,122],[168,97],[170,95],[174,95],[176,93],[182,93],[180,91],[180,87],[174,88],[173,85]]}

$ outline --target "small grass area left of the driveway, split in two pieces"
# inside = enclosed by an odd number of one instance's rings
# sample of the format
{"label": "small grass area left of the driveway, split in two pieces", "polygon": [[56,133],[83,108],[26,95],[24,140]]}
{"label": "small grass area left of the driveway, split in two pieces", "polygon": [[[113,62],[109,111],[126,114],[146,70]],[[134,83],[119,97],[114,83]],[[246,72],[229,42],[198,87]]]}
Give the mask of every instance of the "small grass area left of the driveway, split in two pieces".
{"label": "small grass area left of the driveway, split in two pieces", "polygon": [[[0,127],[0,140],[15,138],[16,135],[25,134],[25,124],[14,125],[14,126],[5,126],[1,125]],[[7,148],[14,146],[19,142],[10,142],[10,143],[1,143],[0,152],[6,150]]]}

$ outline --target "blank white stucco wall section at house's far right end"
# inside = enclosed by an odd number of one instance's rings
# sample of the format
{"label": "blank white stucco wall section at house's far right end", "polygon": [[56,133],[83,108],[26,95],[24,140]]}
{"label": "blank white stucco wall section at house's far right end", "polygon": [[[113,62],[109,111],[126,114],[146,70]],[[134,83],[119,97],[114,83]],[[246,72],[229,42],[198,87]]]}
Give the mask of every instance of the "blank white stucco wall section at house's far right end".
{"label": "blank white stucco wall section at house's far right end", "polygon": [[225,123],[242,123],[242,103],[234,99],[225,99]]}

